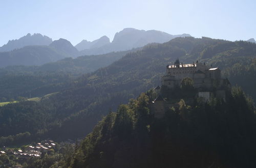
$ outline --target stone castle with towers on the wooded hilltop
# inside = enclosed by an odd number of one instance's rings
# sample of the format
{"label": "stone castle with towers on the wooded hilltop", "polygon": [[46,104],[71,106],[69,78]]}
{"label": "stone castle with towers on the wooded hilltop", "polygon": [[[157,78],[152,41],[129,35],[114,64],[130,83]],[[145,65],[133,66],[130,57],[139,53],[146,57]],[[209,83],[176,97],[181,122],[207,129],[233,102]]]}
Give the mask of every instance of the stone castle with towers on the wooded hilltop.
{"label": "stone castle with towers on the wooded hilltop", "polygon": [[[180,88],[182,79],[186,77],[193,80],[194,88],[197,91],[196,95],[190,99],[201,97],[203,101],[207,102],[210,97],[214,96],[225,101],[226,92],[230,90],[230,82],[226,78],[221,78],[219,68],[213,68],[198,61],[192,64],[183,64],[179,62],[179,59],[175,61],[174,65],[166,66],[166,74],[162,76],[161,88],[175,91]],[[159,86],[155,88],[158,97],[152,102],[156,118],[161,118],[165,109],[174,105],[162,98],[161,88]]]}

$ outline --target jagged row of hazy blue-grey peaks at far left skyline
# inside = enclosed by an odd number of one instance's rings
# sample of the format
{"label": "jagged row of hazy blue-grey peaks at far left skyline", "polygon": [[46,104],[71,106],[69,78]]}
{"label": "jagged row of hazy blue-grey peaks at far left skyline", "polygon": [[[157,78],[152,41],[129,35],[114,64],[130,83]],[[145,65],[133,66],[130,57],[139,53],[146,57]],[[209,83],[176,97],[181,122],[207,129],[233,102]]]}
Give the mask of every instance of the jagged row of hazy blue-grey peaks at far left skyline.
{"label": "jagged row of hazy blue-grey peaks at far left skyline", "polygon": [[52,39],[41,34],[27,34],[16,40],[9,40],[7,44],[0,47],[0,52],[11,51],[13,49],[22,48],[28,45],[49,45],[52,43]]}

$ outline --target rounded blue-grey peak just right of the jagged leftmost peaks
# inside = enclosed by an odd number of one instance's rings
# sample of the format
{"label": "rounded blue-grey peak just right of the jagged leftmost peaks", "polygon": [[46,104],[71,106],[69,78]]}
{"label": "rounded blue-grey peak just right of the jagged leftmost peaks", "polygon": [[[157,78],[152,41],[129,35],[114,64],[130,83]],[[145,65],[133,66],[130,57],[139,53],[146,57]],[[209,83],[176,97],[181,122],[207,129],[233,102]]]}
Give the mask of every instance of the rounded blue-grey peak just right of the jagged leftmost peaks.
{"label": "rounded blue-grey peak just right of the jagged leftmost peaks", "polygon": [[63,57],[77,57],[78,50],[66,39],[59,39],[53,41],[50,47],[55,48]]}

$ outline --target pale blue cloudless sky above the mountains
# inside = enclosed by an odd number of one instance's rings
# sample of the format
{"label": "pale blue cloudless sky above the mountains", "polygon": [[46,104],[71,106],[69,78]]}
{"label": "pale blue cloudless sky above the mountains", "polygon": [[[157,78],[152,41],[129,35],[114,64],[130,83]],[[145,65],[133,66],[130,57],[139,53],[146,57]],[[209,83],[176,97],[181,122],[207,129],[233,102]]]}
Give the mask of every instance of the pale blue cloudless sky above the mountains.
{"label": "pale blue cloudless sky above the mountains", "polygon": [[65,38],[73,45],[104,35],[113,40],[125,27],[231,41],[256,39],[255,0],[3,0],[0,17],[0,46],[27,33]]}

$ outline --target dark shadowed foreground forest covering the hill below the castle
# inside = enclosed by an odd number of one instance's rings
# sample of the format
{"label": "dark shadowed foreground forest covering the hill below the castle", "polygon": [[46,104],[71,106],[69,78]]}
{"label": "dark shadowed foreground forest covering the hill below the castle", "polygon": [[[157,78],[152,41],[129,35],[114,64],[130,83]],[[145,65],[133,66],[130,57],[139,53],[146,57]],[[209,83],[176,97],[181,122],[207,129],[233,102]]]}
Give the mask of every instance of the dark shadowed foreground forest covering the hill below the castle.
{"label": "dark shadowed foreground forest covering the hill below the castle", "polygon": [[255,167],[255,109],[241,88],[226,101],[180,99],[161,119],[151,110],[154,94],[109,110],[73,153],[28,167]]}

